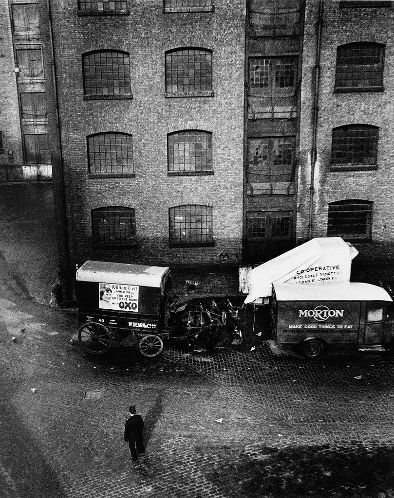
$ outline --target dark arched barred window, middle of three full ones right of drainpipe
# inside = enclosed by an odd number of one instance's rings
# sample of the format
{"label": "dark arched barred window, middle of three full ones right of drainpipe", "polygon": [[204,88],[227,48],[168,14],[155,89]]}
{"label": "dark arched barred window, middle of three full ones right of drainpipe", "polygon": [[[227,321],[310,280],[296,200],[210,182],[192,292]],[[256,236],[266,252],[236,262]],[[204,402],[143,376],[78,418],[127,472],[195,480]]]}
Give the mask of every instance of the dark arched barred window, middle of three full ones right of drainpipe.
{"label": "dark arched barred window, middle of three full ones right of drainpipe", "polygon": [[[378,156],[379,128],[368,124],[350,124],[333,129],[331,164],[349,167],[375,166]],[[335,168],[334,168],[335,169]]]}

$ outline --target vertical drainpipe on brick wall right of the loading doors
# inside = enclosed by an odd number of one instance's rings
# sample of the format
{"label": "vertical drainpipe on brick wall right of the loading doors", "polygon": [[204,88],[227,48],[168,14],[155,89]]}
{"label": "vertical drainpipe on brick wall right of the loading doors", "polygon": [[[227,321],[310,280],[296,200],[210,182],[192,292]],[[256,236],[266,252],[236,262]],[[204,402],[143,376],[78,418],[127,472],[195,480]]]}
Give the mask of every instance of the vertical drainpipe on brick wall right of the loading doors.
{"label": "vertical drainpipe on brick wall right of the loading doors", "polygon": [[311,184],[309,198],[309,225],[308,239],[312,239],[313,226],[313,201],[315,197],[315,166],[317,160],[317,123],[319,114],[319,82],[320,82],[320,52],[323,32],[323,3],[324,0],[319,0],[318,19],[316,22],[316,55],[315,67],[312,73],[312,91],[313,91],[313,109],[312,109],[312,148],[311,148]]}

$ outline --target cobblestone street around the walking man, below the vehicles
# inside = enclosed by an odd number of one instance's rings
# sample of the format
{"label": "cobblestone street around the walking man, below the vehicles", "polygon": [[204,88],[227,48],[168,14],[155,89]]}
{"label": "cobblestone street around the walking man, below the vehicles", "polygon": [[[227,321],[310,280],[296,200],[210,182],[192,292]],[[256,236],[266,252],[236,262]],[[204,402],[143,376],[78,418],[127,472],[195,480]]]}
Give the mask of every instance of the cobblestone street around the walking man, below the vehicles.
{"label": "cobblestone street around the walking man, below the vehicles", "polygon": [[[26,298],[7,272],[0,496],[394,496],[392,357],[306,362],[250,320],[240,348],[226,337],[212,356],[171,343],[153,360],[127,343],[88,356],[70,341],[75,310]],[[130,403],[146,424],[137,465],[123,441]]]}

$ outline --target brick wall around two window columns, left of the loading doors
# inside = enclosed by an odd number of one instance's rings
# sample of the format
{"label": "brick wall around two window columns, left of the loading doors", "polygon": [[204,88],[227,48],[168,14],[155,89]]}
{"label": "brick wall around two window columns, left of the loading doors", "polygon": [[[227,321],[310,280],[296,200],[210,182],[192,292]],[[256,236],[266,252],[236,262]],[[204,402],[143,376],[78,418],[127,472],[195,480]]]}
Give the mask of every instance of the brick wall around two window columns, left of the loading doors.
{"label": "brick wall around two window columns, left of the loading doors", "polygon": [[[53,29],[72,264],[87,258],[147,264],[228,265],[242,252],[245,11],[242,0],[216,0],[214,12],[163,13],[159,0],[130,1],[130,15],[77,15],[77,1],[53,1]],[[99,33],[99,35],[98,35]],[[165,98],[164,53],[212,50],[213,97]],[[83,100],[81,55],[130,53],[132,100]],[[167,176],[167,133],[212,132],[213,175]],[[86,135],[133,135],[135,177],[88,178]],[[172,206],[213,208],[212,248],[170,248]],[[93,250],[91,210],[136,210],[138,249]]]}

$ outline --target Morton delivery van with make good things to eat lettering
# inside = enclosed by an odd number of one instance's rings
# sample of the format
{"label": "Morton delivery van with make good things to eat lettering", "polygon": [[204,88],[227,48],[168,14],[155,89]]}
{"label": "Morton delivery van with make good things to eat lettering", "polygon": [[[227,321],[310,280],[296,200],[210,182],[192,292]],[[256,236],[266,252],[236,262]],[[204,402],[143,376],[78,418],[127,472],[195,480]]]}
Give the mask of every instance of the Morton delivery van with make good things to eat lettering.
{"label": "Morton delivery van with make good things to eat lettering", "polygon": [[368,283],[274,283],[271,328],[278,344],[299,345],[306,358],[321,357],[330,345],[359,350],[394,350],[388,292]]}

